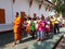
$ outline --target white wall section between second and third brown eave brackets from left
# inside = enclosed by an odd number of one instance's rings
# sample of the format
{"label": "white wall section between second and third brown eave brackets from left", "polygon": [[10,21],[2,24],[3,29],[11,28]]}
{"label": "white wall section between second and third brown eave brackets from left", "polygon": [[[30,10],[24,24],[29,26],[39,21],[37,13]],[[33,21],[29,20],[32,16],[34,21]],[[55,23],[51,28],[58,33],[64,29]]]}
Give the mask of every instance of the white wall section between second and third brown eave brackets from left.
{"label": "white wall section between second and third brown eave brackets from left", "polygon": [[29,15],[34,16],[34,13],[38,16],[38,2],[34,0],[31,8],[29,9]]}

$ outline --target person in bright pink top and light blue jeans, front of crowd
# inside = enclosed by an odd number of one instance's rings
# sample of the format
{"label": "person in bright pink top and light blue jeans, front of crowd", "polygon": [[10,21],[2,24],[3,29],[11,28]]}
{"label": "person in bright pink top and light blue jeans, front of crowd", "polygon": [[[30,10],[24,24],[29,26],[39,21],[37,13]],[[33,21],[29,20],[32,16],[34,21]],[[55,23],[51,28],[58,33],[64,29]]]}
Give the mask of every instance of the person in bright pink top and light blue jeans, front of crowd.
{"label": "person in bright pink top and light blue jeans, front of crowd", "polygon": [[39,24],[38,24],[38,41],[42,41],[43,40],[43,28],[44,28],[44,23],[42,20],[40,20]]}

